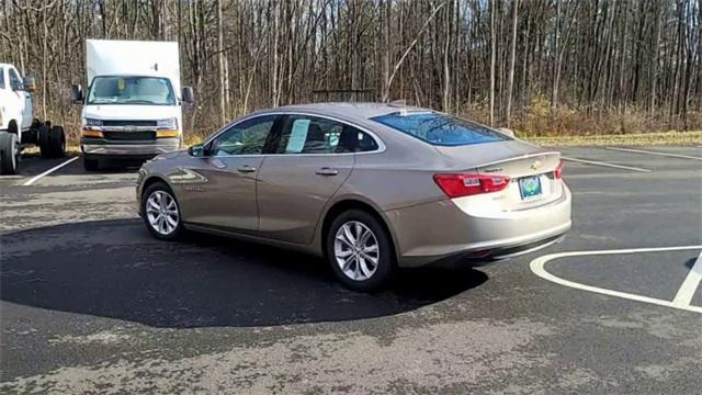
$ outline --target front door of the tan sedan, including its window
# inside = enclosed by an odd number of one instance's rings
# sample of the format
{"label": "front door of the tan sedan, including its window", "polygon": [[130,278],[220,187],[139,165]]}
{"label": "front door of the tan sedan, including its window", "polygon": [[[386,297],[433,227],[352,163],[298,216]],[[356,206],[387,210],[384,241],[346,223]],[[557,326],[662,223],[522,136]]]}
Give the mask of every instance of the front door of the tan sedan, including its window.
{"label": "front door of the tan sedan, including its window", "polygon": [[256,181],[263,163],[263,149],[276,115],[237,123],[203,147],[182,169],[197,182],[178,184],[186,223],[237,233],[258,230]]}

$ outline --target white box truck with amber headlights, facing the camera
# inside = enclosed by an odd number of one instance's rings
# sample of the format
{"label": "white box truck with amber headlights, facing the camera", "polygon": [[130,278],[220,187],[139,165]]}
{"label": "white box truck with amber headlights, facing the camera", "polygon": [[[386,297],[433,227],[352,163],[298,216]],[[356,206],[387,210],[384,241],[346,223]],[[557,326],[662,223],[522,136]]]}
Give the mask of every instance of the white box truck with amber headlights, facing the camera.
{"label": "white box truck with amber headlights, facing the camera", "polygon": [[178,43],[88,40],[88,90],[82,104],[80,148],[86,170],[104,160],[145,160],[182,145],[182,106],[192,88],[180,84]]}

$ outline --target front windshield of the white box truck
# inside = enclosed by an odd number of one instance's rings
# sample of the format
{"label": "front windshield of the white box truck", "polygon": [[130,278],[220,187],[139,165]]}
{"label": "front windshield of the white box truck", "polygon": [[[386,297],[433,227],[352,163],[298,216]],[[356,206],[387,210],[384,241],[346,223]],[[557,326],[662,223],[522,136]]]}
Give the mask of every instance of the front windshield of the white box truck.
{"label": "front windshield of the white box truck", "polygon": [[174,105],[171,83],[159,77],[95,77],[87,104]]}

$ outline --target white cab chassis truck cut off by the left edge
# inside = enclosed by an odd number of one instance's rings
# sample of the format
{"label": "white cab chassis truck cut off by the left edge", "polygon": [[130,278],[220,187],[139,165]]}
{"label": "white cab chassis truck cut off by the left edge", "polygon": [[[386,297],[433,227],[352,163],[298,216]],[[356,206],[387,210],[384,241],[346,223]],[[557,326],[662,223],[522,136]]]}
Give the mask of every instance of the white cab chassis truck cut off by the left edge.
{"label": "white cab chassis truck cut off by the left edge", "polygon": [[14,66],[0,63],[0,174],[14,174],[22,149],[30,145],[38,145],[43,158],[66,154],[64,128],[33,117],[32,91],[33,78],[22,78]]}

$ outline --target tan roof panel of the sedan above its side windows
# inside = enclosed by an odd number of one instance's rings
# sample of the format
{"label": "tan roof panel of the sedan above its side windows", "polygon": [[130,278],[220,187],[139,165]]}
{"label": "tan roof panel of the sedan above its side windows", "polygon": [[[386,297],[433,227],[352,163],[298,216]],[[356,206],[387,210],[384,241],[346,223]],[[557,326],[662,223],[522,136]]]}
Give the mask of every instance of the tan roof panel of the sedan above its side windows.
{"label": "tan roof panel of the sedan above its side windows", "polygon": [[403,103],[364,103],[364,102],[329,102],[283,105],[262,112],[302,112],[320,115],[332,115],[348,121],[365,121],[375,116],[393,114],[398,112],[428,112],[431,110],[421,109]]}

